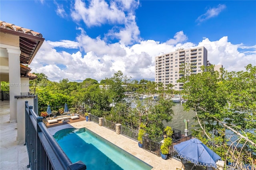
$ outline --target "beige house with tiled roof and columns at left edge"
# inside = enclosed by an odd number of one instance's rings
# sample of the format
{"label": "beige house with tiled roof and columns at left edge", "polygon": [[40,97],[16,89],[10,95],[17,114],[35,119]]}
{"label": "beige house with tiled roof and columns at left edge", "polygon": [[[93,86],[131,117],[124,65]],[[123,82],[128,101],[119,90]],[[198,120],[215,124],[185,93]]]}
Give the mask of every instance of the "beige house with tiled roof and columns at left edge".
{"label": "beige house with tiled roof and columns at left edge", "polygon": [[17,123],[17,143],[25,141],[25,101],[34,103],[29,81],[36,75],[29,73],[28,65],[43,42],[38,32],[0,21],[0,81],[8,82],[9,122]]}

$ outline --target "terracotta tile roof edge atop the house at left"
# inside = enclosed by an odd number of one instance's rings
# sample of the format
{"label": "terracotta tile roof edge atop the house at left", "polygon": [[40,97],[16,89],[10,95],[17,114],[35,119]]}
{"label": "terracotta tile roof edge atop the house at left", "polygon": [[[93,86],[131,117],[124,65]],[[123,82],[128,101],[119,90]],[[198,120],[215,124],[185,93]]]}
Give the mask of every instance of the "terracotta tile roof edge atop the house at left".
{"label": "terracotta tile roof edge atop the house at left", "polygon": [[40,37],[42,38],[42,34],[38,33],[38,32],[34,32],[33,30],[27,29],[27,28],[23,28],[20,26],[16,26],[14,24],[10,24],[4,21],[0,21],[0,28],[4,28],[4,29],[8,29],[8,30],[13,30],[16,32],[22,32],[24,34],[28,34],[28,35],[32,35],[32,36],[36,36],[36,37]]}

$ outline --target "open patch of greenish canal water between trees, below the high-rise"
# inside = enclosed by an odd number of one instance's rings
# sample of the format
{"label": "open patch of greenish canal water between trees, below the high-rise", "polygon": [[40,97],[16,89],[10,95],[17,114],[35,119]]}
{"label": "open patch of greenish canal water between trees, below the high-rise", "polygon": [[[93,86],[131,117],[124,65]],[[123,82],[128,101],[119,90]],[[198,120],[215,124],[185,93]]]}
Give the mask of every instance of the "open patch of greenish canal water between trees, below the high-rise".
{"label": "open patch of greenish canal water between trees, below the high-rise", "polygon": [[170,126],[171,128],[175,128],[178,130],[181,130],[181,133],[184,134],[185,129],[185,122],[184,119],[189,120],[188,121],[188,134],[191,134],[191,129],[193,125],[197,125],[197,123],[194,121],[193,117],[196,116],[196,113],[192,110],[190,111],[184,111],[184,108],[182,104],[175,103],[175,105],[172,107],[172,110],[174,112],[174,115],[172,115],[172,121],[171,122],[164,122],[164,126]]}

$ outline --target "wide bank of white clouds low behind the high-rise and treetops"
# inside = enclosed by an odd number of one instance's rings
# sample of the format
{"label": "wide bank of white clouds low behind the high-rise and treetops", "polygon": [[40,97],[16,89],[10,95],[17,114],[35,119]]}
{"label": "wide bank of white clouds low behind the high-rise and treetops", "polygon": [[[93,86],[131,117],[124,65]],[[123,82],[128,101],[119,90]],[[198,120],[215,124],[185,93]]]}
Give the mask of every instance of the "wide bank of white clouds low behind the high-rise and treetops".
{"label": "wide bank of white clouds low behind the high-rise and treetops", "polygon": [[[183,38],[179,39],[178,35]],[[228,71],[245,70],[244,67],[249,63],[256,65],[256,45],[248,47],[243,44],[232,44],[228,42],[226,36],[217,41],[204,38],[198,44],[194,44],[188,41],[183,42],[187,40],[183,35],[183,32],[177,32],[173,39],[176,42],[173,42],[174,44],[145,40],[128,46],[122,43],[108,44],[100,38],[92,39],[82,32],[74,44],[84,49],[86,55],[82,55],[83,52],[79,50],[76,53],[58,52],[54,47],[65,47],[65,45],[46,41],[30,67],[33,72],[45,73],[50,80],[54,81],[64,78],[70,81],[83,81],[86,78],[100,81],[106,77],[112,77],[118,70],[138,81],[154,80],[156,56],[174,51],[179,47],[186,49],[195,46],[205,46],[210,63],[222,64]],[[76,49],[77,46],[74,45],[74,48]]]}

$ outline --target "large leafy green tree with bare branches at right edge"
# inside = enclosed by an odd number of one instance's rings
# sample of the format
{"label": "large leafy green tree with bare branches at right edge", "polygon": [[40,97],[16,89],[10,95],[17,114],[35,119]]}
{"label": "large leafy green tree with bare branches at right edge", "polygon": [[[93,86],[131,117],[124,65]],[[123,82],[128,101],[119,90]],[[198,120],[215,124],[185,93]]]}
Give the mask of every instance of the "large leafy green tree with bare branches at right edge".
{"label": "large leafy green tree with bare branches at right edge", "polygon": [[255,165],[256,66],[239,72],[213,67],[179,80],[188,94],[184,107],[196,112],[199,129],[193,134],[236,168]]}

